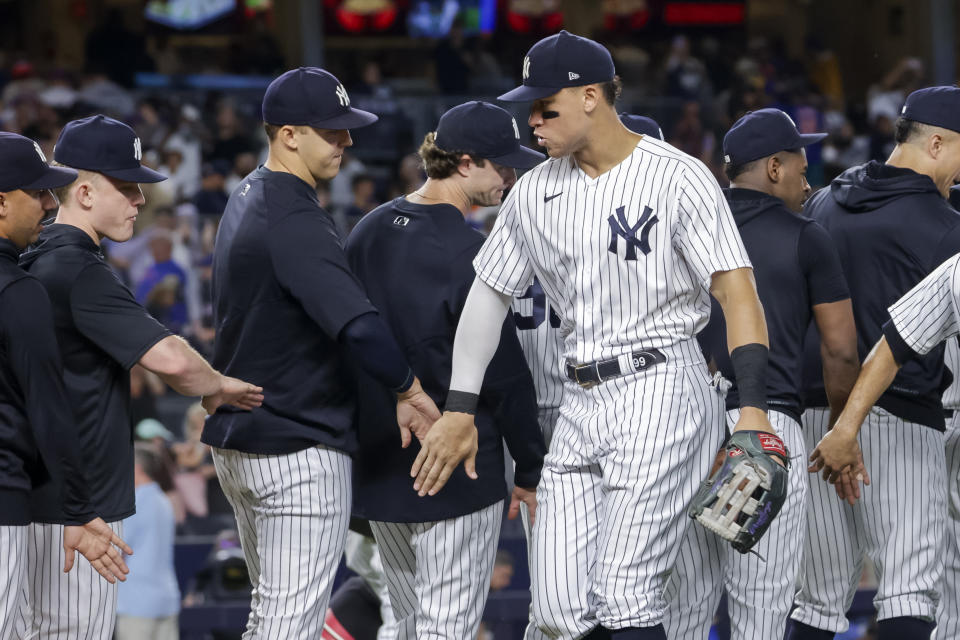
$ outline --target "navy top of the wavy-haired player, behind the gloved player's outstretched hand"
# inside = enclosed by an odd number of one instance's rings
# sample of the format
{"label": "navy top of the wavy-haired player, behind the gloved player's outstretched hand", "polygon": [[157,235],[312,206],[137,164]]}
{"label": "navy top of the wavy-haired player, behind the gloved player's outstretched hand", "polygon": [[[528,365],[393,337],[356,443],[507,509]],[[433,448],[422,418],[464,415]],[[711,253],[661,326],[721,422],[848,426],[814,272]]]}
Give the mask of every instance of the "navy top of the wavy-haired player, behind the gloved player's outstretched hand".
{"label": "navy top of the wavy-haired player, behind the gloved player's outstretched hand", "polygon": [[[347,238],[350,267],[437,406],[450,386],[453,341],[474,280],[473,258],[483,235],[447,204],[398,198],[367,214]],[[436,496],[419,497],[410,467],[417,444],[400,447],[395,402],[368,375],[359,375],[359,451],[354,458],[354,514],[387,522],[431,522],[465,515],[506,496],[503,440],[517,463],[521,487],[539,482],[545,445],[536,392],[516,327],[508,316],[487,368],[475,424],[477,480],[460,465]]]}

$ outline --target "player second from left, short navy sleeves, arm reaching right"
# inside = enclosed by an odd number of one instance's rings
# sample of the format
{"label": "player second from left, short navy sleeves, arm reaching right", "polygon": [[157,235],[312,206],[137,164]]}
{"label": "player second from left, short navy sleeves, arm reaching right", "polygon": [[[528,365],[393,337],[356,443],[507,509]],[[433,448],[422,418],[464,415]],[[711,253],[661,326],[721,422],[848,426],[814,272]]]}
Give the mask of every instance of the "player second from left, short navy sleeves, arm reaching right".
{"label": "player second from left, short navy sleeves, arm reaching right", "polygon": [[[56,222],[43,229],[20,265],[40,280],[52,303],[93,510],[122,535],[122,520],[135,506],[130,368],[139,363],[180,393],[206,395],[208,409],[222,402],[252,407],[260,390],[220,375],[185,340],[170,335],[103,258],[103,238],[123,242],[133,234],[144,201],[138,183],[163,179],[140,165],[133,129],[99,115],[74,120],[57,140],[54,160],[76,169],[77,179],[56,190]],[[80,562],[69,574],[58,569],[63,525],[70,524],[60,484],[48,483],[31,496],[25,637],[110,638],[116,585],[100,580],[89,563]],[[70,594],[71,606],[64,606],[64,594]]]}

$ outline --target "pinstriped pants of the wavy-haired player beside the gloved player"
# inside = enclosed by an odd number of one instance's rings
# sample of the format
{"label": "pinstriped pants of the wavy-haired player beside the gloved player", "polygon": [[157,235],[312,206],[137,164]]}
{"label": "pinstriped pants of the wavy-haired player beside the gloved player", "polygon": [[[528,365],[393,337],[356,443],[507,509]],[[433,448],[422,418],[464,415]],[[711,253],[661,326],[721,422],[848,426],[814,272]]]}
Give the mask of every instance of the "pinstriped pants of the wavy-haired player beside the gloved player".
{"label": "pinstriped pants of the wavy-haired player beside the gloved player", "polygon": [[503,501],[438,522],[370,521],[398,640],[475,640],[490,592]]}

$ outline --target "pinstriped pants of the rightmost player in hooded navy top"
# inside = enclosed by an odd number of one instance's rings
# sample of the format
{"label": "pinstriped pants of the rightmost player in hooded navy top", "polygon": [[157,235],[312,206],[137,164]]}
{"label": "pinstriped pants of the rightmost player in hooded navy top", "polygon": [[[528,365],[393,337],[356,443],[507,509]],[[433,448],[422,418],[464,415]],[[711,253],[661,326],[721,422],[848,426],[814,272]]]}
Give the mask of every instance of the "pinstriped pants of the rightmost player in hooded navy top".
{"label": "pinstriped pants of the rightmost player in hooded navy top", "polygon": [[[829,412],[803,414],[807,451],[827,432]],[[810,474],[804,568],[791,618],[846,631],[864,556],[877,569],[877,619],[933,620],[940,601],[946,514],[943,434],[874,407],[860,430],[870,474],[854,506]]]}

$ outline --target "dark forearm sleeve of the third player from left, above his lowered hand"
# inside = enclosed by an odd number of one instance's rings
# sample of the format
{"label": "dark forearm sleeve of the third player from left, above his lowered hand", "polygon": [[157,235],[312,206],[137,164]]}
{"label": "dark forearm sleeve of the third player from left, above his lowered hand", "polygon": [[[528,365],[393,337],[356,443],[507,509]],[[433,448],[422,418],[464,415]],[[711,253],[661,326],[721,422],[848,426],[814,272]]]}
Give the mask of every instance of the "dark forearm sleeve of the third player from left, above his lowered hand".
{"label": "dark forearm sleeve of the third player from left, above his lowered hand", "polygon": [[410,365],[375,311],[348,322],[340,331],[338,340],[360,368],[385,387],[402,393],[413,384]]}

